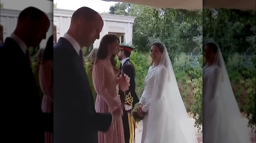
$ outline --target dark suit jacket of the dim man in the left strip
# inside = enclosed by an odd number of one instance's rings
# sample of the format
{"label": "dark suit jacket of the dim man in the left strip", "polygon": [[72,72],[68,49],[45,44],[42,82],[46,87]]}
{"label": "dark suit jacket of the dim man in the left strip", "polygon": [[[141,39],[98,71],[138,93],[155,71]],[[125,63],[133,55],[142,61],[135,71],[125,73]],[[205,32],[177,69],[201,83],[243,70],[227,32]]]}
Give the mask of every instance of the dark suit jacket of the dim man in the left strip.
{"label": "dark suit jacket of the dim man in the left strip", "polygon": [[29,56],[11,38],[0,47],[1,130],[4,142],[43,143],[53,114],[42,113]]}

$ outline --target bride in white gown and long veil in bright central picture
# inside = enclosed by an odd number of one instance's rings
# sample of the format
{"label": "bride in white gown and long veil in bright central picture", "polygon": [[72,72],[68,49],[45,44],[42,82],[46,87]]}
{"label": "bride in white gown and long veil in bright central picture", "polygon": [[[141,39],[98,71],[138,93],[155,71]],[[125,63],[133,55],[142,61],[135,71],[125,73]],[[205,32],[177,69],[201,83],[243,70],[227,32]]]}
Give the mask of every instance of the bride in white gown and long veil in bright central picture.
{"label": "bride in white gown and long veil in bright central picture", "polygon": [[198,143],[165,45],[154,43],[151,56],[153,66],[145,78],[138,110],[144,115],[141,143]]}

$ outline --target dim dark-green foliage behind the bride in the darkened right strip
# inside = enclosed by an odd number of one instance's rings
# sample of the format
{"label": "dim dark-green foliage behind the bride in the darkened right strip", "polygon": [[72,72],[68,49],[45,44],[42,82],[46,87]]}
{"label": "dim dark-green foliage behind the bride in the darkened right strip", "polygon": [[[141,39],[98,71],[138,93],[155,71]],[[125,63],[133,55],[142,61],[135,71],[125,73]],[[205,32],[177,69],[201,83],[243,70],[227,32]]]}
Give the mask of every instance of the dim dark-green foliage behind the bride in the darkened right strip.
{"label": "dim dark-green foliage behind the bride in the darkened right strip", "polygon": [[203,9],[203,41],[221,48],[241,112],[255,132],[256,10]]}

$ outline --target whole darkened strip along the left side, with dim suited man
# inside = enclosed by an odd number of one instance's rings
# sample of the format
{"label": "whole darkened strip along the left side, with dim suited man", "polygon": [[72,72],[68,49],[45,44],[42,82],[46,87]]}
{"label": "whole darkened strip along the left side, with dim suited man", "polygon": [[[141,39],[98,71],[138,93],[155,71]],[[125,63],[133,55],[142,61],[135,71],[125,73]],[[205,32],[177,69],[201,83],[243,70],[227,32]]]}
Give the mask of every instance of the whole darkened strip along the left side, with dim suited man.
{"label": "whole darkened strip along the left side, with dim suited man", "polygon": [[53,0],[1,0],[5,142],[53,143]]}

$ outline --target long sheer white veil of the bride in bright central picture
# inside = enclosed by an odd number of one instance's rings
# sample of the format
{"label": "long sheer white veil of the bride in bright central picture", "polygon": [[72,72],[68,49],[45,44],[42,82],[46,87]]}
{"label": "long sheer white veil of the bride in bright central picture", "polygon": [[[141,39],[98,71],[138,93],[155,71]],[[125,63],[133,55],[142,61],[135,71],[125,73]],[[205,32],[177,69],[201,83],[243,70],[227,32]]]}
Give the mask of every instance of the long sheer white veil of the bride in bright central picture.
{"label": "long sheer white veil of the bride in bright central picture", "polygon": [[[163,43],[161,45],[164,52],[155,75],[144,143],[198,143],[181,98],[167,49]],[[167,68],[166,76],[159,72],[161,67]],[[166,81],[164,85],[162,81]],[[159,97],[164,98],[163,103],[159,103]]]}

